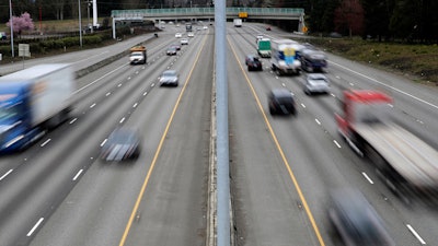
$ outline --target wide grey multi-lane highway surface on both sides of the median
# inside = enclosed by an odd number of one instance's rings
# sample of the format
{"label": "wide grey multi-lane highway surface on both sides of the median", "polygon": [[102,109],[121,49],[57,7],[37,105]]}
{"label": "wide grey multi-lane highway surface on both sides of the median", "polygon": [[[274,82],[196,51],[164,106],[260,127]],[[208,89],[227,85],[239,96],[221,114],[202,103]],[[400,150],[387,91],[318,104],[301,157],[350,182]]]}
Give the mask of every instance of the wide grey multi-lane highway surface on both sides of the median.
{"label": "wide grey multi-lane highway surface on both sides of the median", "polygon": [[[196,26],[195,26],[196,27]],[[306,73],[249,72],[255,36],[290,36],[263,24],[228,24],[228,83],[232,241],[235,245],[343,245],[327,219],[327,192],[356,187],[383,218],[396,245],[435,245],[438,214],[423,202],[395,196],[373,166],[342,140],[334,113],[344,89],[379,89],[394,97],[397,122],[438,148],[438,90],[328,54],[328,95],[307,96]],[[127,56],[77,79],[69,121],[24,152],[0,159],[0,246],[206,245],[214,218],[214,27],[195,32],[177,56],[166,56],[184,26],[166,25],[112,47],[65,54],[37,62],[91,68],[146,43],[148,65]],[[3,65],[0,72],[16,69]],[[9,70],[8,70],[9,69]],[[160,87],[166,69],[177,87]],[[268,114],[267,93],[290,90],[296,117]],[[135,162],[99,160],[117,126],[136,128],[143,142]],[[431,133],[433,132],[433,133]]]}

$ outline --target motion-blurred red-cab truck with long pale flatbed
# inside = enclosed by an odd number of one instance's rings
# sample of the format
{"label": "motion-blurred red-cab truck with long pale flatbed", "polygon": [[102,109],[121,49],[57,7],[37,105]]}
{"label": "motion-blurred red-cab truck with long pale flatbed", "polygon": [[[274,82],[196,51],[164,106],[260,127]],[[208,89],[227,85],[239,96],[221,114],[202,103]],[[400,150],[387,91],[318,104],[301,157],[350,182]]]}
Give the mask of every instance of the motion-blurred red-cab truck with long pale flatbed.
{"label": "motion-blurred red-cab truck with long pale flatbed", "polygon": [[348,144],[383,174],[393,190],[438,190],[438,152],[390,119],[392,98],[382,92],[345,91],[343,116],[335,115]]}

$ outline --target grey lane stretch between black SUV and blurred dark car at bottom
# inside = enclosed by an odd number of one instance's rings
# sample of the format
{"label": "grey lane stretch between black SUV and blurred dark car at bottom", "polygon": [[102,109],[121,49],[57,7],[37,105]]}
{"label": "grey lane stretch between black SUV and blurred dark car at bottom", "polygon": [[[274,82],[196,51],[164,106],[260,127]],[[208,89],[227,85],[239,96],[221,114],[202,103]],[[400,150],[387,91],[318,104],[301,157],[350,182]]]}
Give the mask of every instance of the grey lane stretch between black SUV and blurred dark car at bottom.
{"label": "grey lane stretch between black SUV and blurred dark car at bottom", "polygon": [[[406,229],[403,213],[394,210],[393,202],[400,203],[377,178],[373,168],[364,160],[355,156],[344,142],[334,142],[324,126],[314,119],[307,109],[290,121],[273,119],[273,128],[278,141],[285,148],[285,155],[309,202],[324,235],[326,245],[338,245],[327,223],[327,191],[333,187],[357,187],[369,199],[388,225],[391,236],[397,245],[416,245],[418,242]],[[368,175],[367,175],[368,174]]]}

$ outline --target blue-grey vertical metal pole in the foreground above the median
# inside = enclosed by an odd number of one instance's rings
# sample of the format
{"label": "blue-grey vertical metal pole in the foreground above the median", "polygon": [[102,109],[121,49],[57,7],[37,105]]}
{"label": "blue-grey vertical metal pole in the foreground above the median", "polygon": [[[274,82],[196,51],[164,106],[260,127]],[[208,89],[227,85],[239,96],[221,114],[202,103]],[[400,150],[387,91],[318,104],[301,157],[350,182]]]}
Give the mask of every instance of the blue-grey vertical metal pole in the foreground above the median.
{"label": "blue-grey vertical metal pole in the foreground above the median", "polygon": [[227,1],[215,3],[215,55],[217,95],[218,237],[217,246],[230,245],[230,176],[228,142]]}

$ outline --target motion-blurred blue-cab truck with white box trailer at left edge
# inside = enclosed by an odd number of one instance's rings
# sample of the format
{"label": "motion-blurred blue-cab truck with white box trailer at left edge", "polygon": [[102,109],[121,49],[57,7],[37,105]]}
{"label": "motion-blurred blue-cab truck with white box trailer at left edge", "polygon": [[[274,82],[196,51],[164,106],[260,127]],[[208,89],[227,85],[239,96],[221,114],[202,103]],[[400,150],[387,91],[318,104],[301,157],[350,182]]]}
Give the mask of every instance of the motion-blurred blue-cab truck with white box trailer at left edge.
{"label": "motion-blurred blue-cab truck with white box trailer at left edge", "polygon": [[74,77],[67,63],[0,77],[0,152],[23,150],[68,119]]}

